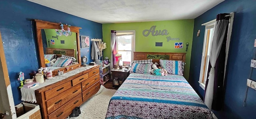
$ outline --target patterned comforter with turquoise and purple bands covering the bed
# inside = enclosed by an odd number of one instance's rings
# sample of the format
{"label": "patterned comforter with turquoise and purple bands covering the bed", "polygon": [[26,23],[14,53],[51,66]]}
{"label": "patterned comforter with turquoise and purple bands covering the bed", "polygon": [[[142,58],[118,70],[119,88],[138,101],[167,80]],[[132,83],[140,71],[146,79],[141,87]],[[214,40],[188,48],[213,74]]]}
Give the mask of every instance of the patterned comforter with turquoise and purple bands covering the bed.
{"label": "patterned comforter with turquoise and purple bands covering the bed", "polygon": [[180,75],[132,73],[110,99],[106,119],[212,119]]}

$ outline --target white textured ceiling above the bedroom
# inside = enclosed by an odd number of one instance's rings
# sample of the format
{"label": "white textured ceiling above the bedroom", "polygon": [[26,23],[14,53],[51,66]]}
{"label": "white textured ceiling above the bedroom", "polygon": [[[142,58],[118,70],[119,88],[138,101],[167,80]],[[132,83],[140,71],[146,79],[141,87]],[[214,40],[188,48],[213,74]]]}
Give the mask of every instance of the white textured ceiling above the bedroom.
{"label": "white textured ceiling above the bedroom", "polygon": [[224,0],[28,0],[98,23],[194,19]]}

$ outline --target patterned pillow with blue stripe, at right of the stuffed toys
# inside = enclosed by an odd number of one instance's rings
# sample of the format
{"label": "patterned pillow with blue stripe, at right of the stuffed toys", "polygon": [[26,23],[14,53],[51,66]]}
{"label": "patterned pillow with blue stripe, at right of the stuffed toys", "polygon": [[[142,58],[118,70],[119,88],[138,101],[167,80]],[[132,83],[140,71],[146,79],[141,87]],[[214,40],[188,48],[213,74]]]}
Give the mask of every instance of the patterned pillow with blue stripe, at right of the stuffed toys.
{"label": "patterned pillow with blue stripe, at right of the stuffed toys", "polygon": [[182,61],[176,60],[159,60],[160,66],[167,70],[168,74],[178,74],[183,75],[182,71]]}

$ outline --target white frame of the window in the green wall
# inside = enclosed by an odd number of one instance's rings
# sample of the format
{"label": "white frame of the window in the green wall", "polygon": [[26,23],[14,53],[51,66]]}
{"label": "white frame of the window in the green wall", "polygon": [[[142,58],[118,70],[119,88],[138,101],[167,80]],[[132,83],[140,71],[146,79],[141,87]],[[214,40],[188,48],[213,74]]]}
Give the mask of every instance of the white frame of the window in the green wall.
{"label": "white frame of the window in the green wall", "polygon": [[[133,37],[132,37],[132,50],[131,50],[131,62],[134,59],[134,53],[135,52],[135,46],[136,46],[136,31],[135,30],[121,30],[121,31],[116,31],[116,34],[118,33],[126,33],[126,32],[131,32],[133,33]],[[117,37],[118,35],[116,35]],[[116,38],[116,52],[118,53],[118,51],[128,51],[128,50],[118,50],[118,39]],[[130,50],[129,50],[130,51]]]}

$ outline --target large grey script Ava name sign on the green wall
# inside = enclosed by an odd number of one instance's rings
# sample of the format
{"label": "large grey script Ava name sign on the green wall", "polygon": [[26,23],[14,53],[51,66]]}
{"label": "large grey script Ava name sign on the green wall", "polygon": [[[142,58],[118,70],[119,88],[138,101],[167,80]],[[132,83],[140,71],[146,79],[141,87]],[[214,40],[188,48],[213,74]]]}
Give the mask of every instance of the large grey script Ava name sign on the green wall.
{"label": "large grey script Ava name sign on the green wall", "polygon": [[[156,30],[156,31],[155,31],[155,29],[156,29],[156,25],[153,25],[149,30],[148,30],[148,29],[143,30],[142,35],[144,35],[145,37],[147,37],[150,33],[151,33],[152,36],[168,35],[168,34],[169,34],[166,29],[164,29],[164,30],[162,30],[162,31],[161,31],[161,30],[159,30],[159,31]],[[145,34],[145,32],[147,32],[147,33]]]}

